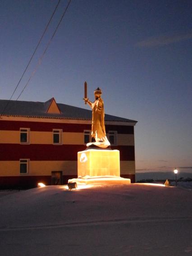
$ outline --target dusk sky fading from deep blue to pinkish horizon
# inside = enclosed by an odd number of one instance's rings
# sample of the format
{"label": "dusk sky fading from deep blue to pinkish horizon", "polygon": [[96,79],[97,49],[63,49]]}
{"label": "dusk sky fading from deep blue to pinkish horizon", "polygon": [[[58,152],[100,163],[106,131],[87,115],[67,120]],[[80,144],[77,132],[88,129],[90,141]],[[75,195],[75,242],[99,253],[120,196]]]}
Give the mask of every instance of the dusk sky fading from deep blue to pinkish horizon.
{"label": "dusk sky fading from deep blue to pinkish horizon", "polygon": [[[58,0],[0,1],[0,98],[9,99]],[[36,69],[58,9],[12,100]],[[137,120],[137,172],[192,173],[192,1],[72,0],[18,100],[83,103],[101,87],[105,113]]]}

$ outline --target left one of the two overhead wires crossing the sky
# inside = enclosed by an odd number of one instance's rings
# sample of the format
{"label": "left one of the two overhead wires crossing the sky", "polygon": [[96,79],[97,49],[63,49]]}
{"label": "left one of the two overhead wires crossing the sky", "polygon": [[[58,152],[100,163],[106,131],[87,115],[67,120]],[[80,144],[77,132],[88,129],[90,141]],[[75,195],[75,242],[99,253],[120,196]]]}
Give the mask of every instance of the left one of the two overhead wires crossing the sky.
{"label": "left one of the two overhead wires crossing the sky", "polygon": [[45,35],[46,31],[47,31],[47,28],[48,28],[49,25],[50,25],[50,22],[51,22],[51,20],[52,20],[54,14],[55,14],[55,11],[56,11],[56,9],[57,9],[59,3],[60,3],[60,0],[58,1],[57,5],[56,5],[56,7],[55,7],[55,10],[54,10],[54,12],[52,13],[52,15],[51,15],[51,17],[50,17],[50,20],[49,20],[49,22],[47,23],[46,28],[45,28],[45,30],[44,30],[44,32],[43,32],[43,34],[42,34],[42,36],[41,36],[41,38],[40,38],[40,40],[39,40],[39,42],[38,42],[38,44],[37,44],[37,46],[36,46],[36,48],[35,48],[33,54],[32,54],[32,57],[31,57],[31,59],[29,60],[29,62],[28,62],[28,64],[27,64],[27,66],[26,66],[26,68],[25,68],[25,70],[24,70],[24,72],[23,72],[21,78],[20,78],[19,81],[18,81],[17,86],[16,86],[15,89],[14,89],[14,92],[12,93],[12,95],[11,95],[9,101],[7,102],[7,105],[5,105],[5,108],[3,109],[2,113],[0,114],[0,116],[5,112],[6,108],[7,108],[8,105],[9,105],[9,102],[11,101],[12,97],[14,96],[14,93],[15,93],[15,91],[17,90],[18,85],[20,84],[20,82],[21,82],[21,80],[22,80],[22,78],[23,78],[23,76],[24,76],[24,74],[25,74],[25,72],[26,72],[26,70],[27,70],[29,64],[30,64],[31,61],[32,61],[33,56],[35,55],[35,53],[36,53],[36,51],[37,51],[38,46],[40,45],[40,43],[41,43],[41,41],[42,41],[42,38],[44,37],[44,35]]}

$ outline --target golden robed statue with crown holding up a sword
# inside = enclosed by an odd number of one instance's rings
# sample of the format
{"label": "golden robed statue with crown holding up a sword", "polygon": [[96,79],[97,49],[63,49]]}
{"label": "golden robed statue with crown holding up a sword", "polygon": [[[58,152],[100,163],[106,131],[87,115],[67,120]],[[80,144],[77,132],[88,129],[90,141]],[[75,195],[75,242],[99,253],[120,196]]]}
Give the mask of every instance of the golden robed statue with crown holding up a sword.
{"label": "golden robed statue with crown holding up a sword", "polygon": [[104,113],[104,103],[101,99],[101,89],[98,87],[95,91],[95,101],[91,102],[87,98],[87,83],[85,82],[85,104],[89,104],[92,109],[92,123],[91,123],[91,142],[87,143],[87,146],[98,146],[106,148],[110,146],[105,133],[105,113]]}

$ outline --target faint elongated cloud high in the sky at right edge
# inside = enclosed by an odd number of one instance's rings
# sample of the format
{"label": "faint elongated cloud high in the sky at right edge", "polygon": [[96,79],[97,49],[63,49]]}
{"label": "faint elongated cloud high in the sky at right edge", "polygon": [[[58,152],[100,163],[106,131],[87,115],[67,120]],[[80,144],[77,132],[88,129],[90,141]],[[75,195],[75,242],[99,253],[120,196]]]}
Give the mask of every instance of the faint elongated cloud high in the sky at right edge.
{"label": "faint elongated cloud high in the sky at right edge", "polygon": [[140,41],[136,44],[139,47],[154,47],[154,46],[166,46],[173,44],[179,41],[184,41],[192,38],[192,32],[181,35],[172,35],[172,36],[158,36],[158,37],[149,37],[143,41]]}

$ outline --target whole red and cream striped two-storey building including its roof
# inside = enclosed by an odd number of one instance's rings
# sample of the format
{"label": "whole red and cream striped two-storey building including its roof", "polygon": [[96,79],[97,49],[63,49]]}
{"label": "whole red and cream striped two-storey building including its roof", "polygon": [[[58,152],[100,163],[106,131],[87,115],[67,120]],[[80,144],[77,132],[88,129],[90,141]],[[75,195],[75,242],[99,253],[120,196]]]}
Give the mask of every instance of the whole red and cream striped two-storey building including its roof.
{"label": "whole red and cream striped two-storey building including its roof", "polygon": [[[0,188],[65,184],[77,177],[77,152],[91,139],[91,110],[46,102],[0,100]],[[135,182],[134,125],[105,114],[120,175]]]}

